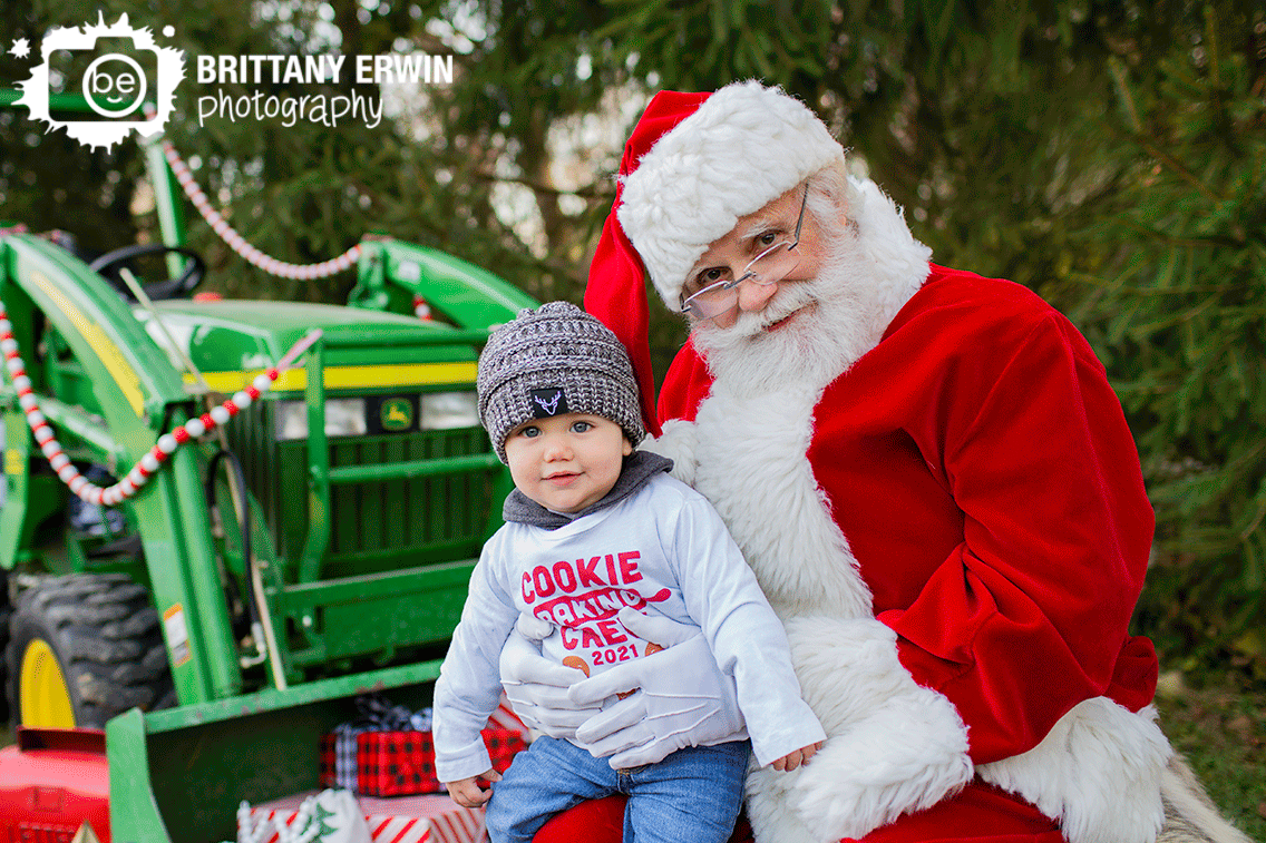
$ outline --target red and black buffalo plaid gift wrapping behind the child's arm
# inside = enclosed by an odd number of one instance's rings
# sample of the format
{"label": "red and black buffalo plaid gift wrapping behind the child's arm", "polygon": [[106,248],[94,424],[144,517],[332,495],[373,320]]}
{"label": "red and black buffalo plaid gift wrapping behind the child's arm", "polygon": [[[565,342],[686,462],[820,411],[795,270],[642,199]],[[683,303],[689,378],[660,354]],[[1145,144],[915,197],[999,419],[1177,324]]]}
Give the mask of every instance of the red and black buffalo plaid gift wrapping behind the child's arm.
{"label": "red and black buffalo plaid gift wrapping behind the child's arm", "polygon": [[[505,772],[527,743],[515,729],[484,729],[492,768]],[[335,786],[335,735],[322,739],[322,784]],[[356,792],[362,796],[442,794],[429,732],[362,732],[356,735]]]}

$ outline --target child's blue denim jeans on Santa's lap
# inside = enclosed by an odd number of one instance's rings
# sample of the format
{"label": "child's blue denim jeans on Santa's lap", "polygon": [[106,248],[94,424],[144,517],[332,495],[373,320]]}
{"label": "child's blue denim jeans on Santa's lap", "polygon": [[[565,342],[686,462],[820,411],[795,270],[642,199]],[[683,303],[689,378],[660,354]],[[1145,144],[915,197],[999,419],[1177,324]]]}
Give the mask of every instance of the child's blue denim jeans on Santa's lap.
{"label": "child's blue denim jeans on Santa's lap", "polygon": [[487,804],[491,843],[530,843],[555,814],[586,799],[628,795],[624,843],[725,843],[743,804],[749,740],[687,747],[615,771],[566,740],[541,737],[514,757]]}

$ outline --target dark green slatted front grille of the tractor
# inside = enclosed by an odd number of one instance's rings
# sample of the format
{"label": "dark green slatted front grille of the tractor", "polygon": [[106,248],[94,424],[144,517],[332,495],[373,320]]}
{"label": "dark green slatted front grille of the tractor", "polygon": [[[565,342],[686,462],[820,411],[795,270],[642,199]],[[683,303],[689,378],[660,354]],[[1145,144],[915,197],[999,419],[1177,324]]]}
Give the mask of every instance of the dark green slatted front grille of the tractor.
{"label": "dark green slatted front grille of the tractor", "polygon": [[[229,427],[230,447],[265,511],[277,554],[294,570],[308,535],[308,443],[272,438],[272,404]],[[253,415],[254,418],[242,418]],[[332,438],[329,465],[373,466],[487,453],[481,428]],[[489,471],[339,484],[330,487],[330,542],[322,578],[377,573],[479,556],[494,475]]]}

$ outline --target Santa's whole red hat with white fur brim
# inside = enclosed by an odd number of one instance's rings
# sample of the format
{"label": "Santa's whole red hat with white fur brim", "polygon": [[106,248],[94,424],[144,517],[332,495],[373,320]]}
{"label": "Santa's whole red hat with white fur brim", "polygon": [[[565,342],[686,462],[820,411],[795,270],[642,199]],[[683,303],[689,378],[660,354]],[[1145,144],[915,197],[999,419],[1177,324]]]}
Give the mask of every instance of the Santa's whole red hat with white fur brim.
{"label": "Santa's whole red hat with white fur brim", "polygon": [[777,87],[736,82],[714,94],[661,91],[624,146],[585,309],[633,358],[647,430],[660,434],[647,343],[646,280],[670,310],[708,246],[844,151],[822,120]]}

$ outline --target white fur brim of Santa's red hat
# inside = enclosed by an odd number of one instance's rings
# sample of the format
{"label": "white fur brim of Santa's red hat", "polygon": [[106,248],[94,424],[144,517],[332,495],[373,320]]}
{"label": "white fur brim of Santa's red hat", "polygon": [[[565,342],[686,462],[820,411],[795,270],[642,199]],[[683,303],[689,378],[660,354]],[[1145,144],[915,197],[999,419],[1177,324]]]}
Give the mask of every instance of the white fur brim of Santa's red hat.
{"label": "white fur brim of Santa's red hat", "polygon": [[799,100],[757,81],[720,89],[661,137],[624,178],[620,225],[676,309],[708,246],[844,149]]}

